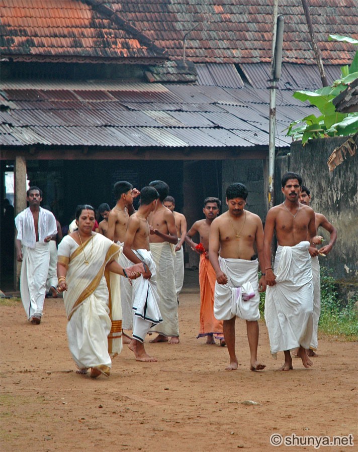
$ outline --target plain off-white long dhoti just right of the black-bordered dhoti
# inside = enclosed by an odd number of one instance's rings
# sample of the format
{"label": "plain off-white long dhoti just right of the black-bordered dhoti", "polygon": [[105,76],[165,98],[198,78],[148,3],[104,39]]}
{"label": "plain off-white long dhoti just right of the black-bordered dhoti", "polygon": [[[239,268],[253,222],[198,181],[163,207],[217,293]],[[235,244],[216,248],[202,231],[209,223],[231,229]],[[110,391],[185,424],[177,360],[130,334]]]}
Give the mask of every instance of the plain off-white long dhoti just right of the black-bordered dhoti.
{"label": "plain off-white long dhoti just right of the black-bordered dhoti", "polygon": [[178,305],[175,292],[173,245],[168,242],[151,243],[150,251],[156,266],[159,310],[163,318],[163,322],[155,326],[153,331],[164,336],[178,337]]}

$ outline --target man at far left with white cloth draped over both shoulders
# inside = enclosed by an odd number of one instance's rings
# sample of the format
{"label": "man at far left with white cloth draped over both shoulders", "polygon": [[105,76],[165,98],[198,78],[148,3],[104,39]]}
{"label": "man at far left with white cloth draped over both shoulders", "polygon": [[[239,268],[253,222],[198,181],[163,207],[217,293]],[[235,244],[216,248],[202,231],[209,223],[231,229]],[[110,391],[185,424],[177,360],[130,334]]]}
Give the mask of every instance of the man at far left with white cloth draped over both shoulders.
{"label": "man at far left with white cloth draped over both shoulders", "polygon": [[56,219],[40,207],[42,191],[30,187],[26,193],[29,207],[15,218],[17,260],[22,262],[20,292],[28,320],[39,324],[46,295],[46,279],[50,262],[50,241],[57,234]]}

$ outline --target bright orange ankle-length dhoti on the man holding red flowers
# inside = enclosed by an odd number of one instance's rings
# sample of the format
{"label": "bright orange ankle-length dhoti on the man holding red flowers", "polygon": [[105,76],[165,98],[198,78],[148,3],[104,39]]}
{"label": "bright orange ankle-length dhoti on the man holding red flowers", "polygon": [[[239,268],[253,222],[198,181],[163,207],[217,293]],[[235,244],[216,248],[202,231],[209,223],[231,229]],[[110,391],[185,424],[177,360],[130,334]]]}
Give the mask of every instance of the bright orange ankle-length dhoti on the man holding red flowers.
{"label": "bright orange ankle-length dhoti on the man holding red flowers", "polygon": [[214,290],[216,274],[205,254],[200,255],[199,285],[200,285],[200,330],[198,337],[213,334],[217,339],[223,339],[223,322],[214,317]]}

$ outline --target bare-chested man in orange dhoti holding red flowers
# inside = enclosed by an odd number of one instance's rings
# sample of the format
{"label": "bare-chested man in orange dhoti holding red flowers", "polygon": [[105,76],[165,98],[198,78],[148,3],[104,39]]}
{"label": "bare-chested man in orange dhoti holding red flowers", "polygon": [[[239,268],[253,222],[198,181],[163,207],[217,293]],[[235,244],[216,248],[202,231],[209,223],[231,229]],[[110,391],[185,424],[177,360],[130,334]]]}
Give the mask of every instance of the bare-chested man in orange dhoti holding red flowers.
{"label": "bare-chested man in orange dhoti holding red flowers", "polygon": [[[225,346],[223,322],[214,317],[214,290],[216,274],[209,261],[209,232],[210,225],[218,216],[221,201],[219,198],[207,197],[204,199],[204,219],[195,221],[190,228],[185,240],[193,251],[200,255],[199,263],[199,286],[200,286],[200,328],[197,338],[207,336],[207,344],[215,344],[215,338]],[[199,245],[193,242],[192,237],[199,234],[199,241],[203,249],[197,249]]]}

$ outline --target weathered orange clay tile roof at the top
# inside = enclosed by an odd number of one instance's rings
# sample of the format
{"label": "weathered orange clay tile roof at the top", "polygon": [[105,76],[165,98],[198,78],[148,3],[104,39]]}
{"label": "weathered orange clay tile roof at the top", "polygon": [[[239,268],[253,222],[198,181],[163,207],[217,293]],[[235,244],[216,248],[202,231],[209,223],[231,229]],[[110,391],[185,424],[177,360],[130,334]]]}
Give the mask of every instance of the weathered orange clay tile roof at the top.
{"label": "weathered orange clay tile roof at the top", "polygon": [[[0,0],[0,8],[2,54],[18,59],[146,61],[165,57],[165,49],[181,60],[187,35],[192,62],[271,60],[273,0]],[[309,8],[323,60],[350,62],[354,47],[328,35],[358,38],[356,0],[310,0]],[[279,14],[283,61],[316,64],[301,0],[280,0]]]}

